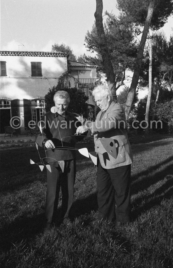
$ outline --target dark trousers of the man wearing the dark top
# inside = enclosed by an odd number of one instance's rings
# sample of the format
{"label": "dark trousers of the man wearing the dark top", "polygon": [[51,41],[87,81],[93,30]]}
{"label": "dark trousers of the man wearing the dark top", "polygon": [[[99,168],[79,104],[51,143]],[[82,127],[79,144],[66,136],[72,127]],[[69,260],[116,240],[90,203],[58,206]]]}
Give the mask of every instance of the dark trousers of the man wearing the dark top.
{"label": "dark trousers of the man wearing the dark top", "polygon": [[46,223],[52,222],[53,213],[57,210],[60,187],[62,192],[62,217],[69,216],[73,203],[75,176],[75,159],[64,161],[64,172],[61,171],[60,167],[54,166],[51,166],[51,172],[47,170]]}

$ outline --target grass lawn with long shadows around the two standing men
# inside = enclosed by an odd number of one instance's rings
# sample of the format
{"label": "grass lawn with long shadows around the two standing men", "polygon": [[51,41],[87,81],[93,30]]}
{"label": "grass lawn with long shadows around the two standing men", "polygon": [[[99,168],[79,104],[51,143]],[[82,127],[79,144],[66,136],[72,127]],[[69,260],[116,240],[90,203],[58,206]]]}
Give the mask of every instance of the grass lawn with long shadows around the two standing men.
{"label": "grass lawn with long shadows around the two standing men", "polygon": [[[85,146],[85,144],[84,144]],[[42,234],[46,171],[36,147],[1,151],[0,267],[173,267],[173,139],[133,144],[132,222],[88,226],[97,214],[96,168],[77,155],[70,227]],[[41,154],[43,152],[41,151]]]}

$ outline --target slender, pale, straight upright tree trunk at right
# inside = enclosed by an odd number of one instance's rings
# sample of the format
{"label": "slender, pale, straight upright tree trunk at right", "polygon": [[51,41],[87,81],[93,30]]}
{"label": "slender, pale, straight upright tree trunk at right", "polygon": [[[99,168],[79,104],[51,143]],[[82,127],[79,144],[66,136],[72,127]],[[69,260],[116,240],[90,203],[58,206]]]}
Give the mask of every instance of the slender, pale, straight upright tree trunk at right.
{"label": "slender, pale, straight upright tree trunk at right", "polygon": [[[148,97],[147,97],[147,105],[146,105],[146,112],[145,112],[146,126],[149,125],[149,109],[150,109],[151,94],[152,94],[152,41],[151,41],[151,36],[149,36],[148,45],[149,45],[149,85],[148,85]],[[149,129],[149,127],[147,127],[145,129],[146,135],[148,135],[148,129]]]}

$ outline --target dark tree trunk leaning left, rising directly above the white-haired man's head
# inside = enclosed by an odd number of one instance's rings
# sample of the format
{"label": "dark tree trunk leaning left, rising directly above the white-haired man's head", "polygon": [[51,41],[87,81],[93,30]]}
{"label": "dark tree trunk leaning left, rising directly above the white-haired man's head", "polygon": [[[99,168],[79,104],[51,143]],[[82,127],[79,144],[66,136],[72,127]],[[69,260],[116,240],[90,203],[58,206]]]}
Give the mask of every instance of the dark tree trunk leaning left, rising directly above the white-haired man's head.
{"label": "dark tree trunk leaning left, rising directly above the white-haired man's head", "polygon": [[109,57],[106,36],[104,33],[102,12],[103,12],[103,1],[96,0],[96,12],[94,13],[94,17],[96,19],[98,45],[100,47],[100,51],[101,51],[101,55],[102,55],[102,61],[103,61],[103,66],[104,66],[105,72],[106,72],[107,82],[108,82],[108,85],[111,84],[112,93],[113,93],[113,96],[115,98],[115,96],[116,96],[115,75],[114,75],[114,69],[113,69],[113,66],[112,66],[112,63],[111,63],[111,60]]}

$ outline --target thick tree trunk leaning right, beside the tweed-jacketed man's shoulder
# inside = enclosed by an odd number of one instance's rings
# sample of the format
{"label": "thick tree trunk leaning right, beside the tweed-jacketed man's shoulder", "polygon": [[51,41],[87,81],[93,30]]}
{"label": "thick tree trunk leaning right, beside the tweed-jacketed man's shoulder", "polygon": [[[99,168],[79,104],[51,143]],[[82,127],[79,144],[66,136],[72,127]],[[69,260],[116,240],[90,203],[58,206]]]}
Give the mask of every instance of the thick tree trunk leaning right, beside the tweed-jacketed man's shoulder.
{"label": "thick tree trunk leaning right, beside the tweed-jacketed man's shoulder", "polygon": [[138,80],[139,80],[139,74],[140,74],[141,66],[142,66],[142,59],[143,59],[145,42],[147,40],[149,26],[150,26],[151,19],[153,16],[154,3],[155,3],[155,0],[150,0],[149,6],[148,6],[148,14],[147,14],[147,18],[145,20],[143,33],[142,33],[142,37],[141,37],[141,41],[140,41],[139,49],[138,49],[138,53],[137,53],[137,58],[135,61],[135,68],[134,68],[134,73],[133,73],[133,77],[132,77],[132,81],[131,81],[131,86],[130,86],[130,90],[129,90],[126,105],[125,105],[126,119],[129,118],[129,115],[131,112],[132,102],[133,102],[133,99],[135,96],[135,91],[136,91]]}

